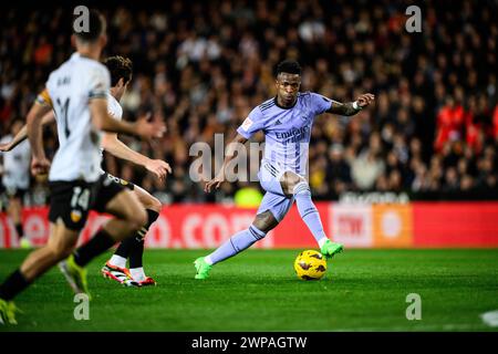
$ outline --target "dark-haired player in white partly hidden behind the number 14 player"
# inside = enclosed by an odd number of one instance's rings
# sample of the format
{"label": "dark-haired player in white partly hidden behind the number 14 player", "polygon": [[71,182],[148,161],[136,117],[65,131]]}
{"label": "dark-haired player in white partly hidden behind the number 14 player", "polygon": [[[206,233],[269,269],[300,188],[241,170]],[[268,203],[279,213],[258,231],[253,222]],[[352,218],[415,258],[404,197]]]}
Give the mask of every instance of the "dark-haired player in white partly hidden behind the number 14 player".
{"label": "dark-haired player in white partly hidden behind the number 14 player", "polygon": [[[105,59],[104,64],[111,73],[111,91],[107,95],[107,111],[112,117],[122,119],[123,108],[120,104],[120,100],[132,81],[132,61],[127,58],[116,55]],[[55,122],[53,111],[42,118],[43,125],[52,122]],[[25,127],[22,127],[11,140],[0,145],[0,150],[10,150],[27,137],[27,129]],[[172,171],[169,164],[160,159],[151,159],[127,147],[118,139],[117,134],[104,133],[102,137],[102,147],[103,150],[106,150],[118,158],[145,167],[159,179],[165,179],[166,174]],[[155,285],[156,281],[152,277],[145,275],[143,268],[144,238],[149,227],[157,220],[163,205],[157,198],[153,197],[143,188],[135,186],[133,183],[115,177],[104,170],[102,170],[102,174],[105,174],[113,183],[133,190],[147,212],[147,223],[138,230],[134,237],[126,238],[120,243],[120,247],[116,249],[113,257],[102,268],[102,274],[107,279],[115,280],[125,285]],[[126,260],[128,258],[129,269],[126,268]]]}

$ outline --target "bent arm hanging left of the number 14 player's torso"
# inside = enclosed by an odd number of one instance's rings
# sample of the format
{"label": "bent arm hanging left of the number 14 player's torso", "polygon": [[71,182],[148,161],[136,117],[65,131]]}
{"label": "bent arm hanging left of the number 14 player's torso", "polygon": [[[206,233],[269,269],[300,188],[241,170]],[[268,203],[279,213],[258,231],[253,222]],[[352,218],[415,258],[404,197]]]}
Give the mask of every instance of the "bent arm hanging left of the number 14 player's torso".
{"label": "bent arm hanging left of the number 14 player's torso", "polygon": [[31,162],[31,171],[33,175],[46,174],[50,168],[50,162],[46,159],[43,149],[42,139],[42,117],[52,110],[49,105],[35,102],[27,117],[28,138],[30,139],[33,159]]}

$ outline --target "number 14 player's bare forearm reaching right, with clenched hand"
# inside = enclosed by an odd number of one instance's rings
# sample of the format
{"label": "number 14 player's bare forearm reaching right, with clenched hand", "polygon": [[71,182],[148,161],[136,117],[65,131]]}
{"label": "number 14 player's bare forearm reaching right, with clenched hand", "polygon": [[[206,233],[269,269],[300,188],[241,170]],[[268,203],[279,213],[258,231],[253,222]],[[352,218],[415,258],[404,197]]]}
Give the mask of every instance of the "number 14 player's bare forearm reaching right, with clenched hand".
{"label": "number 14 player's bare forearm reaching right, with clenched hand", "polygon": [[108,133],[135,135],[145,140],[151,140],[155,137],[162,137],[166,131],[166,125],[163,122],[148,122],[147,118],[141,118],[135,123],[114,119],[108,115],[107,100],[105,98],[91,100],[90,112],[95,127]]}

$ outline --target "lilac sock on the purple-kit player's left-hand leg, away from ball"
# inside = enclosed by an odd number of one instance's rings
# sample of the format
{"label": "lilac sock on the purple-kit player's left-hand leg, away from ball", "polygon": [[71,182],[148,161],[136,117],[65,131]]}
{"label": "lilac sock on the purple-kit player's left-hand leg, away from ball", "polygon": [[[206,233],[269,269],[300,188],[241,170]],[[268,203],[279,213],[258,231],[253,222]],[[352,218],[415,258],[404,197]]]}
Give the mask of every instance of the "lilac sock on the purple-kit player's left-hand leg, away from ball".
{"label": "lilac sock on the purple-kit player's left-hand leg, away from ball", "polygon": [[252,243],[261,240],[264,236],[267,236],[266,232],[258,230],[253,225],[251,225],[249,229],[239,231],[234,235],[229,240],[227,240],[211,254],[209,254],[207,259],[209,259],[212,264],[221,262],[227,258],[230,258],[249,248]]}

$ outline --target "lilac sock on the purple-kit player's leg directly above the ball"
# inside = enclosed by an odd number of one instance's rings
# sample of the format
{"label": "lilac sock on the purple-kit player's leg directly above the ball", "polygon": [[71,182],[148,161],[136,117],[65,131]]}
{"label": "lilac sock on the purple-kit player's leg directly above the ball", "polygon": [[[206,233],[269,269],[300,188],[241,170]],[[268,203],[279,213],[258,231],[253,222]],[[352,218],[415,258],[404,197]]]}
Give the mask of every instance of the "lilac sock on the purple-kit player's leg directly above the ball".
{"label": "lilac sock on the purple-kit player's leg directly above the ball", "polygon": [[322,221],[320,220],[320,214],[318,212],[317,207],[311,200],[311,191],[308,183],[301,181],[295,185],[293,195],[301,219],[308,226],[311,233],[313,233],[317,242],[319,244],[323,244],[326,241],[326,235],[323,231]]}

